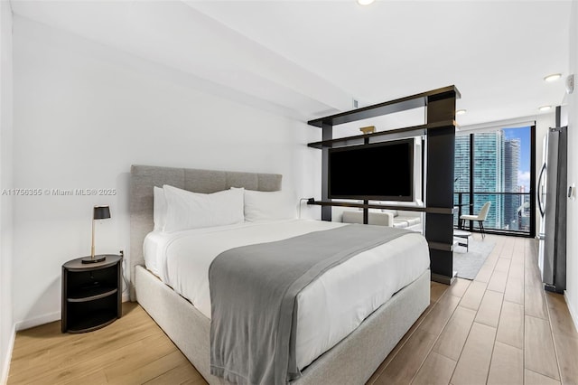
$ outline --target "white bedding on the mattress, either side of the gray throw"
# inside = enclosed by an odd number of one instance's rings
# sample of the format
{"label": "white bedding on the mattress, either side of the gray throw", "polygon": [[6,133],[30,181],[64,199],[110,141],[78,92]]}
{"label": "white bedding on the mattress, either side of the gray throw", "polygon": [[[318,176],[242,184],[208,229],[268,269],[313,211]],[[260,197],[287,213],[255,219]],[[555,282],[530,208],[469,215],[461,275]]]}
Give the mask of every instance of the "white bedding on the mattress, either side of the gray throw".
{"label": "white bedding on the mattress, either side of the gray throw", "polygon": [[[146,268],[210,318],[209,267],[219,253],[343,223],[289,220],[239,223],[179,232],[153,231],[144,239]],[[300,369],[331,349],[399,289],[414,281],[430,259],[419,233],[397,239],[331,268],[297,296],[296,357]]]}

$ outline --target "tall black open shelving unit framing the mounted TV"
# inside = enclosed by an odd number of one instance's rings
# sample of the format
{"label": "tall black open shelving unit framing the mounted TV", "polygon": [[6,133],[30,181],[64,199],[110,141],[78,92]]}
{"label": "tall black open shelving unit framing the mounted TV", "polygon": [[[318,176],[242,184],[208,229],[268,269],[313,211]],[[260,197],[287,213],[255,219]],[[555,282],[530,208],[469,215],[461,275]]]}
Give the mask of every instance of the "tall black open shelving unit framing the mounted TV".
{"label": "tall black open shelving unit framing the mounted TV", "polygon": [[[322,128],[322,141],[308,144],[322,150],[322,199],[308,202],[322,206],[322,220],[331,221],[331,206],[362,208],[364,221],[368,200],[363,203],[334,202],[329,199],[329,149],[336,146],[355,146],[372,141],[387,140],[387,136],[406,133],[426,136],[425,207],[392,206],[392,209],[425,212],[425,238],[430,249],[432,280],[451,285],[453,272],[453,167],[455,146],[455,104],[461,97],[455,86],[433,89],[406,98],[390,100],[365,108],[357,108],[329,117],[310,120],[309,125]],[[368,135],[333,139],[333,127],[370,117],[379,117],[413,108],[426,108],[426,123]],[[377,208],[389,208],[378,206]]]}

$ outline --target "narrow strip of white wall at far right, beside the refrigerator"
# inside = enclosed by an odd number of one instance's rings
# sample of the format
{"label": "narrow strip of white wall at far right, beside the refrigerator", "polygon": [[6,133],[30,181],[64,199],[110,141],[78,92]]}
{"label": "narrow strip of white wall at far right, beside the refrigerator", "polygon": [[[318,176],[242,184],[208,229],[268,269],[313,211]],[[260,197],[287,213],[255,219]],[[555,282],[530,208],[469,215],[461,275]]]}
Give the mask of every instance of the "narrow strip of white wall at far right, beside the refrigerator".
{"label": "narrow strip of white wall at far right, beside the refrigerator", "polygon": [[[578,79],[578,3],[572,3],[570,20],[570,73]],[[575,86],[574,86],[575,87]],[[578,183],[578,88],[568,95],[568,185]],[[578,329],[578,200],[568,200],[566,302]]]}

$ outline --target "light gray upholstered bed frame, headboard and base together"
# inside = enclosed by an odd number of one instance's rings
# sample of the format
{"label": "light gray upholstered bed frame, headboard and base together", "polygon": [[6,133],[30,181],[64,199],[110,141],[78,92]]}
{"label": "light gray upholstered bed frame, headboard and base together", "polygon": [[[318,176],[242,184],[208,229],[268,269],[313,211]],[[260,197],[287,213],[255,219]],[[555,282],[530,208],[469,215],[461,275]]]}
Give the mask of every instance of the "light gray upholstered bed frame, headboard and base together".
{"label": "light gray upholstered bed frame, headboard and base together", "polygon": [[[202,305],[202,301],[197,306],[191,305],[191,301],[178,292],[182,292],[182,289],[173,290],[159,278],[162,274],[158,271],[154,274],[144,268],[144,239],[153,230],[153,188],[169,184],[191,192],[204,193],[224,191],[230,187],[275,192],[281,189],[281,180],[282,177],[278,174],[144,165],[134,165],[131,169],[131,300],[136,300],[143,306],[211,384],[228,382],[210,374],[210,316],[207,314],[207,305]],[[327,225],[329,223],[325,223],[325,226]],[[292,221],[283,221],[276,226],[294,231],[297,225]],[[303,227],[302,224],[298,226]],[[307,226],[314,227],[317,224],[309,223]],[[234,229],[231,230],[238,231],[235,226],[232,227]],[[252,224],[248,226],[241,224],[238,227],[243,228],[242,231],[259,233]],[[181,240],[173,239],[169,242],[167,239],[161,239],[160,242],[178,244],[187,239],[182,236],[177,238]],[[207,237],[203,235],[201,238]],[[148,263],[150,265],[150,258]],[[412,278],[410,283],[396,290],[394,296],[391,296],[385,304],[378,305],[377,310],[372,311],[367,318],[364,317],[357,328],[340,337],[340,341],[329,350],[319,356],[303,359],[303,368],[300,368],[302,376],[292,380],[291,383],[358,384],[367,381],[429,305],[429,269],[420,268],[417,274],[415,271],[412,274],[415,278]],[[195,301],[193,299],[192,302]]]}

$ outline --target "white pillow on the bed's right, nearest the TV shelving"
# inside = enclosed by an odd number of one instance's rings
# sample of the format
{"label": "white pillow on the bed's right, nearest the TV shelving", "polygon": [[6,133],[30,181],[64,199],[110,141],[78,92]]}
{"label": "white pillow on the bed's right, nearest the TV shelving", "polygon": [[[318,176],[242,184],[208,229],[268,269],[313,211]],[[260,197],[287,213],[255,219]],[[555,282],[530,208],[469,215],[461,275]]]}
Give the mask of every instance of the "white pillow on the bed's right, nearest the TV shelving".
{"label": "white pillow on the bed's right, nearest the TV shelving", "polygon": [[295,203],[290,194],[245,190],[245,221],[288,220],[295,217]]}

